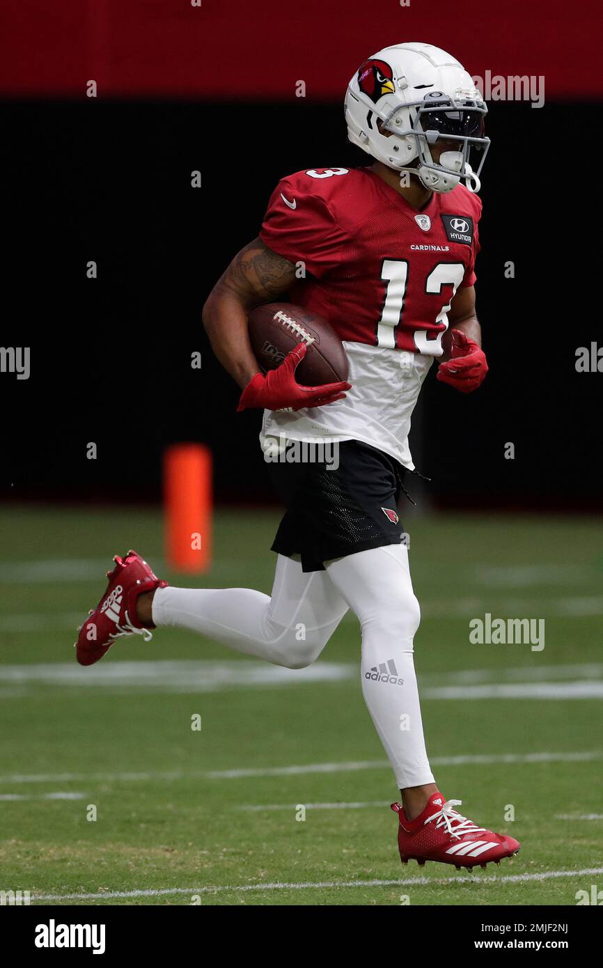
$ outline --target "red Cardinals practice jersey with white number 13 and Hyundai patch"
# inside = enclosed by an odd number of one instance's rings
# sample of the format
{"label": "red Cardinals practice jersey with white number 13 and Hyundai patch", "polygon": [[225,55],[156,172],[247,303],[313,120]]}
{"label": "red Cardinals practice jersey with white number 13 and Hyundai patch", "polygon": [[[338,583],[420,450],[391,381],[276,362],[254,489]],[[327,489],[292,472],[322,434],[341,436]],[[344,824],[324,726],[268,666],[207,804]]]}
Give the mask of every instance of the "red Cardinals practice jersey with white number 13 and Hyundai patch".
{"label": "red Cardinals practice jersey with white number 13 and Hyundai patch", "polygon": [[459,185],[417,212],[370,168],[311,168],[279,182],[259,237],[303,263],[291,301],[340,339],[440,356],[450,301],[475,282],[481,208]]}

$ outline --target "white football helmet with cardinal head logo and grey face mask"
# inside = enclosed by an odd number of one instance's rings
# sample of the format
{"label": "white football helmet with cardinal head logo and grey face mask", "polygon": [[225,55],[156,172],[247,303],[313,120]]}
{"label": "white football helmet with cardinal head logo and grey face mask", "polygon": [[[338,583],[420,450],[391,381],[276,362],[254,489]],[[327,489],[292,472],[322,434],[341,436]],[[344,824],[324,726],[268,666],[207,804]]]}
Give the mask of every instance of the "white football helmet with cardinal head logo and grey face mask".
{"label": "white football helmet with cardinal head logo and grey face mask", "polygon": [[[490,146],[488,108],[445,50],[419,43],[378,50],[349,81],[345,107],[347,137],[383,165],[418,175],[434,192],[450,192],[462,178],[469,191],[479,191]],[[430,146],[440,139],[458,141],[462,150],[442,152],[436,164]],[[476,171],[471,148],[481,156]]]}

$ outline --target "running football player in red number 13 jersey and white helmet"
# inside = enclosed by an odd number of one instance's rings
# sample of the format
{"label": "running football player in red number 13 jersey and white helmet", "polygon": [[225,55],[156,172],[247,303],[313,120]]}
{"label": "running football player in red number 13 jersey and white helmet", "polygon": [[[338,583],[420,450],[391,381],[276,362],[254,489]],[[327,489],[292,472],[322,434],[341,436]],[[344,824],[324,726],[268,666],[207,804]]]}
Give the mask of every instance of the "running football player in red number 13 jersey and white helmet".
{"label": "running football player in red number 13 jersey and white helmet", "polygon": [[[286,505],[270,596],[170,588],[129,552],[116,557],[82,626],[77,658],[90,665],[121,635],[176,626],[299,669],[351,609],[362,629],[364,698],[401,790],[392,808],[402,861],[484,866],[519,843],[467,820],[431,771],[412,654],[419,605],[397,501],[414,470],[410,416],[434,361],[437,378],[463,393],[488,371],[474,290],[487,108],[454,57],[412,43],[369,58],[349,82],[345,110],[349,140],[369,164],[283,178],[258,237],[203,309],[212,347],[241,387],[239,409],[264,411],[264,447],[329,441],[338,466],[269,465]],[[260,372],[248,315],[285,296],[329,320],[347,350],[349,382],[300,386],[303,343]]]}

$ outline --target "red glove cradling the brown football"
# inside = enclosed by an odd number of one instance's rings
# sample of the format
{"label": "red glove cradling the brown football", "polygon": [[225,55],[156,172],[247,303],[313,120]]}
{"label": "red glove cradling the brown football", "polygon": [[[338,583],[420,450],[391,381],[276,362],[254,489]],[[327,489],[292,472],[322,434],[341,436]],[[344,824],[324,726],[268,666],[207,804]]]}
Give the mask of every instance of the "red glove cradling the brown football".
{"label": "red glove cradling the brown football", "polygon": [[302,386],[295,379],[295,368],[306,355],[306,344],[298,343],[286,354],[285,359],[276,370],[269,370],[265,375],[256,376],[247,384],[237,410],[248,407],[262,407],[268,410],[300,410],[303,407],[322,407],[342,400],[350,390],[351,384],[324,383],[322,386]]}

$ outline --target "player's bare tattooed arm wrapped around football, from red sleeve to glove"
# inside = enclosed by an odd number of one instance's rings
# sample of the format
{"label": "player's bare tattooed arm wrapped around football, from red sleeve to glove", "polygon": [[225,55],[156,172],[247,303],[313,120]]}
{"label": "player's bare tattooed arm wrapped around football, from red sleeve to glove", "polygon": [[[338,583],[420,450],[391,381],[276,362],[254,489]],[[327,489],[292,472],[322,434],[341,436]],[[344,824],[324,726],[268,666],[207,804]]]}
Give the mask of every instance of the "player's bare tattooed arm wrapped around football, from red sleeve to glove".
{"label": "player's bare tattooed arm wrapped around football, from red sleeve to glove", "polygon": [[203,325],[216,356],[241,388],[260,372],[247,316],[260,303],[284,295],[295,266],[256,238],[232,259],[203,306]]}

